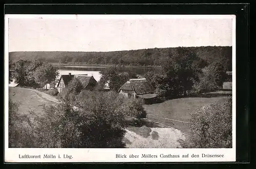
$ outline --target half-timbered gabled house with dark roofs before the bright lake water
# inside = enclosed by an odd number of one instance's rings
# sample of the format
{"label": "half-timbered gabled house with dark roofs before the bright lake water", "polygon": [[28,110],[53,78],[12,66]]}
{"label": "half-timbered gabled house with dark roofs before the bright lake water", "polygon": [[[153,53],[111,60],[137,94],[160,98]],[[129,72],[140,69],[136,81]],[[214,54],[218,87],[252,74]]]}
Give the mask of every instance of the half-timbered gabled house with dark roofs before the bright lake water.
{"label": "half-timbered gabled house with dark roofs before the bright lake water", "polygon": [[68,86],[69,82],[74,77],[80,80],[80,82],[83,85],[83,88],[86,90],[91,90],[97,85],[97,81],[94,79],[93,76],[88,76],[87,74],[71,75],[71,73],[69,73],[69,75],[61,75],[58,85],[57,85],[58,92],[59,93],[62,92],[63,89]]}

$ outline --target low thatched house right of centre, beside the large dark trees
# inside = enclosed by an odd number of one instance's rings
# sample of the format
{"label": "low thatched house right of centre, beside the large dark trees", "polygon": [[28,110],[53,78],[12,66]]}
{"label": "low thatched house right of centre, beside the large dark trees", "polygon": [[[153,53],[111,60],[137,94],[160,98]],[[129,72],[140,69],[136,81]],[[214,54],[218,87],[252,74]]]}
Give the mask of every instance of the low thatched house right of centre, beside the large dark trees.
{"label": "low thatched house right of centre, beside the large dark trees", "polygon": [[155,98],[157,98],[153,87],[145,78],[130,79],[120,87],[118,92],[126,97],[142,98],[145,103],[154,102]]}

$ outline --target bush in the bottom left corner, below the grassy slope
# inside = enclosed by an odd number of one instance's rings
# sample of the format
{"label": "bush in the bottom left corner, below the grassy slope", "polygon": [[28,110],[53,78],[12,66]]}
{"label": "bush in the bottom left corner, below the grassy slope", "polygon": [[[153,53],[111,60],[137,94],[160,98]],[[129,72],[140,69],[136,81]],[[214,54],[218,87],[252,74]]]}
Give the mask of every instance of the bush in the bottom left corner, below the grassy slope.
{"label": "bush in the bottom left corner, below the grassy slope", "polygon": [[31,148],[34,137],[28,114],[18,113],[19,104],[9,99],[9,147]]}

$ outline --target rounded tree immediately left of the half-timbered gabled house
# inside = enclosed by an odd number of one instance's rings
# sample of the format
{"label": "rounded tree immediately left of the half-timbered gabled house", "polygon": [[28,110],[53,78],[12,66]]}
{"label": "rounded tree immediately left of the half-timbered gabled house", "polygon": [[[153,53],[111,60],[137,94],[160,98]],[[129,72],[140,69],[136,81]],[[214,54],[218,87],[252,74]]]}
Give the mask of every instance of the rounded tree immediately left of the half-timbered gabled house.
{"label": "rounded tree immediately left of the half-timbered gabled house", "polygon": [[51,83],[58,76],[58,68],[54,67],[50,63],[44,63],[40,67],[36,68],[34,73],[35,82],[41,87]]}

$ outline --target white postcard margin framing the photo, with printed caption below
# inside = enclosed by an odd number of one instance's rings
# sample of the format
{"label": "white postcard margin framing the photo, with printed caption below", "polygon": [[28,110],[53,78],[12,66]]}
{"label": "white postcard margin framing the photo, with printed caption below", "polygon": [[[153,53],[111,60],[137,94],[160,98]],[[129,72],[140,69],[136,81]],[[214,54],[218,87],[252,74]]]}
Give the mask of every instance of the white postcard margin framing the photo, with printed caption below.
{"label": "white postcard margin framing the photo, with printed caption below", "polygon": [[[230,149],[41,149],[8,147],[9,18],[231,18],[232,19],[232,148]],[[5,162],[232,162],[236,161],[236,15],[5,15]],[[40,158],[19,158],[20,156]],[[176,155],[170,158],[169,155]],[[179,155],[179,157],[177,157]],[[182,158],[182,155],[188,157]],[[217,157],[210,157],[215,155]],[[138,158],[136,158],[138,156]],[[50,158],[49,158],[50,157]],[[117,158],[119,157],[119,158]]]}

